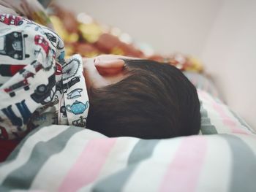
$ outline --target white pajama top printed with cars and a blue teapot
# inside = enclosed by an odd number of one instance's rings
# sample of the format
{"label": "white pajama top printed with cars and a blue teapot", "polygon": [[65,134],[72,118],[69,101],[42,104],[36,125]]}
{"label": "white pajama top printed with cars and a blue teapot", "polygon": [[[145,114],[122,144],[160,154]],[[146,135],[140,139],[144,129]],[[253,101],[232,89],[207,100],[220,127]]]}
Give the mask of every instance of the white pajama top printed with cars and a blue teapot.
{"label": "white pajama top printed with cars and a blue teapot", "polygon": [[0,15],[0,139],[23,137],[31,120],[86,126],[89,100],[80,55],[64,60],[64,43],[49,28]]}

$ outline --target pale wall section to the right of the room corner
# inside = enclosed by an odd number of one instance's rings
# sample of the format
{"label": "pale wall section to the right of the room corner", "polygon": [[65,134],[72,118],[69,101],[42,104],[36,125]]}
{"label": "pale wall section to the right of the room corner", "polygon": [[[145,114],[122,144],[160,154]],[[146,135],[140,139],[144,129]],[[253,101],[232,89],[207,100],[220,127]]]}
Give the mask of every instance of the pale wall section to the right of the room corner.
{"label": "pale wall section to the right of the room corner", "polygon": [[227,104],[256,130],[256,1],[225,0],[201,55]]}

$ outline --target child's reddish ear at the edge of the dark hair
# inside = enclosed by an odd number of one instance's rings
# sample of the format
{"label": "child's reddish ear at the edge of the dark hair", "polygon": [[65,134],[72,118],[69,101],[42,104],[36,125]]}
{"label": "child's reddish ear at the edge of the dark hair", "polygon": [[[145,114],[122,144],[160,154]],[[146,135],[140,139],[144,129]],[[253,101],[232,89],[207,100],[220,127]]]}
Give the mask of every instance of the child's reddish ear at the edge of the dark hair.
{"label": "child's reddish ear at the edge of the dark hair", "polygon": [[116,75],[122,73],[124,70],[124,61],[121,59],[95,61],[94,65],[101,75]]}

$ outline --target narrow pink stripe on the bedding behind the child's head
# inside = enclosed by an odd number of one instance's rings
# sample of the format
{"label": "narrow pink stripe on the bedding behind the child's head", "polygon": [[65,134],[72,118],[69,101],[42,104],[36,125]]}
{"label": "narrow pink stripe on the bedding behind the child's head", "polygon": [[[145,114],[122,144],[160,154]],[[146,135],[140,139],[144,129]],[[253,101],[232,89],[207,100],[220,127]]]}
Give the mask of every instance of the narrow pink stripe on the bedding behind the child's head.
{"label": "narrow pink stripe on the bedding behind the child's head", "polygon": [[225,126],[228,126],[233,134],[248,134],[246,131],[238,127],[237,123],[229,118],[226,114],[225,111],[222,109],[220,104],[217,104],[217,102],[213,103],[213,107],[217,112],[219,112],[219,115],[222,118],[222,122]]}

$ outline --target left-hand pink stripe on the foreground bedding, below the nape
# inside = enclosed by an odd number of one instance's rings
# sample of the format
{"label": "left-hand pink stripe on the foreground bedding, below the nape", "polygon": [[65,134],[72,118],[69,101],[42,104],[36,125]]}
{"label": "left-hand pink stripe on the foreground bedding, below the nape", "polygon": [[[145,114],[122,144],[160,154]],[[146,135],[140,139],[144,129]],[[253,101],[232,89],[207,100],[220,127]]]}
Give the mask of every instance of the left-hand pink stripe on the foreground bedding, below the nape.
{"label": "left-hand pink stripe on the foreground bedding, below the nape", "polygon": [[115,143],[116,138],[89,141],[67,173],[59,191],[78,191],[96,180]]}

